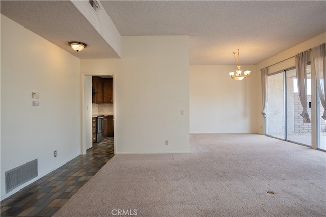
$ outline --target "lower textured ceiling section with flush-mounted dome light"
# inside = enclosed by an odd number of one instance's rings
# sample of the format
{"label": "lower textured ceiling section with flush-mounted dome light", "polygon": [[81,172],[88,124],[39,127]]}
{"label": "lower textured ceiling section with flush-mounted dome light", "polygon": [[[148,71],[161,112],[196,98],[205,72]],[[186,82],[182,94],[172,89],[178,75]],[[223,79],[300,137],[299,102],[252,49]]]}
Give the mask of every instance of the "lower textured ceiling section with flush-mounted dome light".
{"label": "lower textured ceiling section with flush-mounted dome light", "polygon": [[[3,1],[1,13],[78,58],[119,58],[71,1]],[[76,52],[69,41],[86,43]]]}

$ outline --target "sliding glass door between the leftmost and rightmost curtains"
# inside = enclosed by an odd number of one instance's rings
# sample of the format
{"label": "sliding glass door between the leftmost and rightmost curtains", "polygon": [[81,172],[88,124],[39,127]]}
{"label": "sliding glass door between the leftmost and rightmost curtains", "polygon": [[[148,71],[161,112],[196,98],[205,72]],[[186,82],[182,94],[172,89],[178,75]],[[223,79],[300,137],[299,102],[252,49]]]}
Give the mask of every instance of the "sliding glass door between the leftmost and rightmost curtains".
{"label": "sliding glass door between the leftmost and rightmost curtains", "polygon": [[[310,76],[310,65],[307,65],[307,110],[311,118]],[[311,146],[312,125],[311,123],[303,123],[303,117],[300,116],[302,111],[303,108],[298,95],[296,69],[292,68],[269,75],[266,134]],[[326,126],[324,131],[324,144],[326,145]]]}

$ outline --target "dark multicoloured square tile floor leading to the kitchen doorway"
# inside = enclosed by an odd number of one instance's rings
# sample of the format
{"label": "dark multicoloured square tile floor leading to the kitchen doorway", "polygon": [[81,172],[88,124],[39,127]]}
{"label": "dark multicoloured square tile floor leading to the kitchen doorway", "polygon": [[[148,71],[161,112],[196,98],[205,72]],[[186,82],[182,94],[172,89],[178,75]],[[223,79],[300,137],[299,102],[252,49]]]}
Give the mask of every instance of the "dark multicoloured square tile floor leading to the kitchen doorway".
{"label": "dark multicoloured square tile floor leading to the kitchen doorway", "polygon": [[52,216],[114,156],[113,137],[1,201],[0,216]]}

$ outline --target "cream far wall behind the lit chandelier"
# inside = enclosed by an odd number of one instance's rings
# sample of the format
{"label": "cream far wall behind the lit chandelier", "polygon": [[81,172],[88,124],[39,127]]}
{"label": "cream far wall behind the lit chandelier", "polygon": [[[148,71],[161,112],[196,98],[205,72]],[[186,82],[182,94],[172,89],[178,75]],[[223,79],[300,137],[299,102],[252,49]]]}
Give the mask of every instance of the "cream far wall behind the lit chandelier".
{"label": "cream far wall behind the lit chandelier", "polygon": [[236,65],[190,66],[190,133],[256,132],[256,72],[237,82],[229,72]]}

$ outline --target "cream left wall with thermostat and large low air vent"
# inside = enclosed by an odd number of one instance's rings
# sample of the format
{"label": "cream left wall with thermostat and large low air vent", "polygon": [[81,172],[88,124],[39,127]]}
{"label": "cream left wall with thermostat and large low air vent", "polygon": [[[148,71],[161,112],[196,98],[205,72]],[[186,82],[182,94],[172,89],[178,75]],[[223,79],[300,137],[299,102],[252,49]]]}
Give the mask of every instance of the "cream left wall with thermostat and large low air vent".
{"label": "cream left wall with thermostat and large low air vent", "polygon": [[[1,199],[78,156],[80,60],[1,15]],[[32,92],[40,93],[39,99]],[[40,106],[32,106],[39,101]],[[53,151],[57,150],[57,157]],[[38,159],[34,180],[5,194],[5,172]]]}

